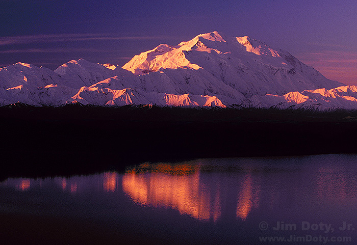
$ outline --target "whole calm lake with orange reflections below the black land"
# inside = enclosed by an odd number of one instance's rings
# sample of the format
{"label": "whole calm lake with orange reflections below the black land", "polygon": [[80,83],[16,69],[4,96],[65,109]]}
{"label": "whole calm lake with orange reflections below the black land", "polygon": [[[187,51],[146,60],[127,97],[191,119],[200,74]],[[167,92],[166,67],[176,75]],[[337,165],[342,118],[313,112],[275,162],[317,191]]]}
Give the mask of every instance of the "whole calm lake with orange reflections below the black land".
{"label": "whole calm lake with orange reflections below the black land", "polygon": [[357,155],[218,158],[143,163],[125,173],[8,178],[0,183],[0,238],[353,244],[356,164]]}

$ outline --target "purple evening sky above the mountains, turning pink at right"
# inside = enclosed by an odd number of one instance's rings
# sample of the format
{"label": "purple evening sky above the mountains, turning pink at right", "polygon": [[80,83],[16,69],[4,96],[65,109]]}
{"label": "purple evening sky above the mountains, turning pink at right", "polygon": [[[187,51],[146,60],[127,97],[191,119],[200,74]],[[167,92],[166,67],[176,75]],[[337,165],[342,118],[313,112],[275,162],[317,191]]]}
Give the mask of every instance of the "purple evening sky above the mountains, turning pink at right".
{"label": "purple evening sky above the mountains, turning pink at right", "polygon": [[56,69],[72,59],[124,65],[161,43],[221,31],[289,51],[357,85],[357,3],[319,0],[0,0],[0,67]]}

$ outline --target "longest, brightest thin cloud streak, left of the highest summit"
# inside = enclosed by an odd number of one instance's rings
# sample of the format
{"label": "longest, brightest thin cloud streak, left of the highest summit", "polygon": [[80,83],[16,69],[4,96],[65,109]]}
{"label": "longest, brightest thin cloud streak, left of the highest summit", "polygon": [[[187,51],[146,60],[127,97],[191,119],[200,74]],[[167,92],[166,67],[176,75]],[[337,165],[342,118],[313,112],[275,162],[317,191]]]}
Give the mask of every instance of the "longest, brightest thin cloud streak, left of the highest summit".
{"label": "longest, brightest thin cloud streak, left of the highest summit", "polygon": [[75,42],[93,40],[152,40],[152,39],[176,39],[172,36],[120,36],[119,34],[52,34],[52,35],[28,35],[14,37],[0,37],[1,45],[29,44],[29,43],[54,43]]}

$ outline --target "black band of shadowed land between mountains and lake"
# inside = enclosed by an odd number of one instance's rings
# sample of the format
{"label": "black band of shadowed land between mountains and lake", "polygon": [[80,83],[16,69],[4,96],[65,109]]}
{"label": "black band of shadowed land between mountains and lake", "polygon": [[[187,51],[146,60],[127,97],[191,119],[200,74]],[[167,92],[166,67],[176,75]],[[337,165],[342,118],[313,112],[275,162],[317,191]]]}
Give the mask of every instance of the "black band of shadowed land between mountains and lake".
{"label": "black band of shadowed land between mountains and lake", "polygon": [[357,113],[67,105],[0,107],[0,179],[143,161],[357,153]]}

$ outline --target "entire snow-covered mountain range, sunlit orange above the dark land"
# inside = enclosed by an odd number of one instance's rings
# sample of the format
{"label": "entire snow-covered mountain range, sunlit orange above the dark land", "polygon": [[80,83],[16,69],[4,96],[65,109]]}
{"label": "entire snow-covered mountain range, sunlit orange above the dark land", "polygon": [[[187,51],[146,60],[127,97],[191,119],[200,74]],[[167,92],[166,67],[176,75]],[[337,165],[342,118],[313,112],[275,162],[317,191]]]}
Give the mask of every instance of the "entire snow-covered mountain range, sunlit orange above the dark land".
{"label": "entire snow-covered mountain range, sunlit orange above the dark land", "polygon": [[289,52],[212,32],[161,44],[122,68],[69,61],[55,71],[16,63],[0,69],[0,105],[357,108],[357,89],[325,78]]}

